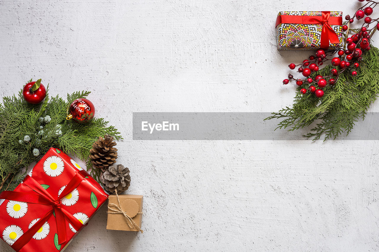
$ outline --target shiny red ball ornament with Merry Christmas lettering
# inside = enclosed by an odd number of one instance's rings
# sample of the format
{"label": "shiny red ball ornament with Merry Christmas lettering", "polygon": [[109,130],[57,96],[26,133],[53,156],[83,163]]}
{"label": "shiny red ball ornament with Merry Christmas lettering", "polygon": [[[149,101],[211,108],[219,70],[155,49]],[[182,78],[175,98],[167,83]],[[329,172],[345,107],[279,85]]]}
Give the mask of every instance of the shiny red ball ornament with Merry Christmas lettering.
{"label": "shiny red ball ornament with Merry Christmas lettering", "polygon": [[68,112],[70,112],[70,114],[67,115],[67,120],[74,119],[79,123],[87,123],[94,117],[95,107],[90,100],[86,98],[79,98],[71,103],[67,113]]}

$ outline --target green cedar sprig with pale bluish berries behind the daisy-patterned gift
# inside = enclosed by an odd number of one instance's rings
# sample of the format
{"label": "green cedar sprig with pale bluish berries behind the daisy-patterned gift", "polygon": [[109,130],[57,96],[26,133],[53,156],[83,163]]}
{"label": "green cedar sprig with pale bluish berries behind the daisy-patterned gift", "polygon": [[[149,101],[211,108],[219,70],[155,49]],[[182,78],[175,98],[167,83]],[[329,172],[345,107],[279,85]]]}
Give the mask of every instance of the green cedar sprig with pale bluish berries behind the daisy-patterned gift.
{"label": "green cedar sprig with pale bluish berries behind the daisy-patterned gift", "polygon": [[[105,134],[122,139],[120,132],[114,126],[107,126],[109,122],[103,118],[94,118],[85,124],[66,120],[70,103],[85,98],[90,92],[68,94],[65,101],[59,96],[50,98],[48,89],[41,104],[27,103],[22,91],[18,96],[4,97],[0,104],[0,192],[13,190],[25,176],[26,168],[38,162],[50,147],[85,160],[91,175],[100,181],[100,172],[92,169],[88,158],[92,143]],[[41,123],[39,118],[46,116],[51,120]],[[29,142],[24,141],[26,135],[31,138]],[[34,156],[33,149],[38,149],[40,155]]]}

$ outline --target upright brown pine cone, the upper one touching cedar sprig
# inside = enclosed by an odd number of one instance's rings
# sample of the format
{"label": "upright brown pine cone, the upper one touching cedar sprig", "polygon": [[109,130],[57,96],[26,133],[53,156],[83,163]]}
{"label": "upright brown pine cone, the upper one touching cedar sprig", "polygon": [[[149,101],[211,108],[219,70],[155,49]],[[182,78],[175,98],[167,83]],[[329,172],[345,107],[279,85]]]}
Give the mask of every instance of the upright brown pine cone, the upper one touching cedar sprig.
{"label": "upright brown pine cone, the upper one touching cedar sprig", "polygon": [[95,168],[105,170],[116,163],[117,149],[113,147],[115,145],[117,143],[110,135],[105,135],[104,138],[99,137],[99,140],[92,144],[89,159]]}

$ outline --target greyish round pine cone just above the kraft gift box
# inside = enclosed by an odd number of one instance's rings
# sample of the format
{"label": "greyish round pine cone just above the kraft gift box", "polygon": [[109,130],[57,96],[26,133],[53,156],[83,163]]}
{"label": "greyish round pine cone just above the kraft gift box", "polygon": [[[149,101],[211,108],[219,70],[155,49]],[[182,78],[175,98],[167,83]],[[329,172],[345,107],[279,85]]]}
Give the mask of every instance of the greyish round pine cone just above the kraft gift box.
{"label": "greyish round pine cone just above the kraft gift box", "polygon": [[102,174],[101,181],[104,184],[105,190],[114,193],[122,193],[128,190],[130,186],[130,171],[124,165],[112,165]]}

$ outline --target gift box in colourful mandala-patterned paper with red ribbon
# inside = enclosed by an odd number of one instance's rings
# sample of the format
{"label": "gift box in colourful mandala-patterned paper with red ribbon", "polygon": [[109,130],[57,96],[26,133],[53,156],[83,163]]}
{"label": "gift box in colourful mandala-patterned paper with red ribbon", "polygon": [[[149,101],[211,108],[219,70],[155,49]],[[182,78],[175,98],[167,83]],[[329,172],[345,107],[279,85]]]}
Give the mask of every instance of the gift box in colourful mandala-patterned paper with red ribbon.
{"label": "gift box in colourful mandala-patterned paper with red ribbon", "polygon": [[342,11],[281,11],[278,50],[334,50],[342,46]]}

